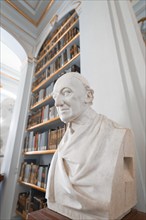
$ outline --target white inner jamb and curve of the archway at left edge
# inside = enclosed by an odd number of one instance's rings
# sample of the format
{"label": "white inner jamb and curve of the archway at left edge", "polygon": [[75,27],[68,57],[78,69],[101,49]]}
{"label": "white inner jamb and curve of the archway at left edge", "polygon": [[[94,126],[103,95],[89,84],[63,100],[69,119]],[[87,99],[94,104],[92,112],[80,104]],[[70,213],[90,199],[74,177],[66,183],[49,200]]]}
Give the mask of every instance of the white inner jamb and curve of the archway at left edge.
{"label": "white inner jamb and curve of the archway at left edge", "polygon": [[[3,33],[5,35],[4,37],[2,37],[3,42],[7,44],[21,60],[21,76],[17,89],[17,98],[13,109],[11,124],[9,126],[9,134],[5,146],[4,159],[1,165],[1,172],[5,173],[5,181],[4,184],[0,186],[0,212],[2,219],[11,219],[14,193],[17,185],[16,169],[18,166],[18,160],[20,159],[21,152],[19,138],[22,140],[22,137],[19,137],[18,131],[22,133],[22,120],[20,119],[20,116],[21,112],[23,111],[22,103],[25,99],[24,91],[27,79],[26,76],[28,69],[28,59],[27,54],[22,45],[6,30],[3,29]],[[11,193],[9,193],[10,191]],[[7,212],[5,212],[5,207],[7,207]]]}

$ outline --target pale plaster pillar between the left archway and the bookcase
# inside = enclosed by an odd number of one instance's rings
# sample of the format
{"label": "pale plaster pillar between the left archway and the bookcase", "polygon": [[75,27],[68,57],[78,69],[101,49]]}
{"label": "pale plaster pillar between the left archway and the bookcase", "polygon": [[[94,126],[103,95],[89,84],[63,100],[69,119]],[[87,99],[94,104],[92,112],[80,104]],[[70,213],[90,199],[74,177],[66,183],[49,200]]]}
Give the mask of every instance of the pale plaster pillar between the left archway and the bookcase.
{"label": "pale plaster pillar between the left archway and the bookcase", "polygon": [[[17,194],[19,184],[19,168],[23,148],[23,137],[27,123],[27,110],[29,105],[29,94],[31,89],[34,62],[28,59],[22,68],[22,78],[18,88],[18,97],[14,107],[11,121],[5,161],[1,171],[5,173],[5,180],[1,185],[1,219],[11,219],[15,215]],[[14,209],[14,210],[13,210]]]}

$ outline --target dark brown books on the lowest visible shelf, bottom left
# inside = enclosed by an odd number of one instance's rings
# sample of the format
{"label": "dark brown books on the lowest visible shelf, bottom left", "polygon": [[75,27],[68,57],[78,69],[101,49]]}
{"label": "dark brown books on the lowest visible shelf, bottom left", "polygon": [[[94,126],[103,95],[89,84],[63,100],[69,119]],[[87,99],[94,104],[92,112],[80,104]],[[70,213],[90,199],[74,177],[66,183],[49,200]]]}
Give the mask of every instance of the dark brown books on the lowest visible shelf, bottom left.
{"label": "dark brown books on the lowest visible shelf, bottom left", "polygon": [[21,213],[25,219],[27,214],[39,209],[47,207],[47,200],[45,194],[37,190],[31,190],[26,192],[20,192],[17,200],[16,211]]}

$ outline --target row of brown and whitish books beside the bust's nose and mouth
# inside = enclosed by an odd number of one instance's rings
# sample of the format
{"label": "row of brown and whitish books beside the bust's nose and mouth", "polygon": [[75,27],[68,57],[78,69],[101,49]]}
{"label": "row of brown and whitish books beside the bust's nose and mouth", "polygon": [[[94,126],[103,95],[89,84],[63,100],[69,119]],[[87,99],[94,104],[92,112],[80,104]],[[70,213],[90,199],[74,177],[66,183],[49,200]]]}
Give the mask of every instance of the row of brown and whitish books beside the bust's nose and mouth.
{"label": "row of brown and whitish books beside the bust's nose and mouth", "polygon": [[27,127],[30,128],[32,126],[46,122],[56,117],[58,117],[58,112],[56,107],[55,106],[50,107],[49,105],[45,105],[36,112],[31,112],[31,114],[28,116]]}

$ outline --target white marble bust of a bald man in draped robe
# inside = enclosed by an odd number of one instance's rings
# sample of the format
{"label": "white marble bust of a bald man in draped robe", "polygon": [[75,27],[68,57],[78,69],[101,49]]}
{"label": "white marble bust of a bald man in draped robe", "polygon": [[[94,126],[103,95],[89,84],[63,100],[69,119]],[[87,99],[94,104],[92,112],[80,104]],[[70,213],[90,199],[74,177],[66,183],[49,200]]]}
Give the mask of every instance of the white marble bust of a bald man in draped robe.
{"label": "white marble bust of a bald man in draped robe", "polygon": [[71,219],[121,219],[136,204],[134,141],[92,108],[93,90],[79,73],[61,76],[53,98],[66,132],[48,174],[48,208]]}

